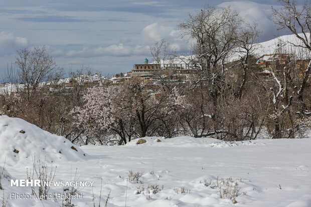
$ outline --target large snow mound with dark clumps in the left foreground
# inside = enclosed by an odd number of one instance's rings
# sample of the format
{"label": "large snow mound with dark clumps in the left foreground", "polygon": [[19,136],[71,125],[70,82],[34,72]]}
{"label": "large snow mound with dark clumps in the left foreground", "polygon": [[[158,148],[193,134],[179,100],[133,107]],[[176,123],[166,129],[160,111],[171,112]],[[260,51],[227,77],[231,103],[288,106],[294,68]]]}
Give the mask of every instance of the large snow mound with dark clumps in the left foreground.
{"label": "large snow mound with dark clumps in the left foreground", "polygon": [[63,136],[51,134],[20,118],[0,116],[0,162],[36,159],[77,161],[86,154]]}

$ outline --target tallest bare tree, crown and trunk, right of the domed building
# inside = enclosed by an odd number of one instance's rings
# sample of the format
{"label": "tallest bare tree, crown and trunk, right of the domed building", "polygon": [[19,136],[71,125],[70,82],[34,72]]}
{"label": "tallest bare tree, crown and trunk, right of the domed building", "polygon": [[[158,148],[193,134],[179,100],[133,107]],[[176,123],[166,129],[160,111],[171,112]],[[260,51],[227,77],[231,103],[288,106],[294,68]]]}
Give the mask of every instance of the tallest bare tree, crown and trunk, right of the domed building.
{"label": "tallest bare tree, crown and trunk, right of the domed building", "polygon": [[215,107],[226,84],[225,64],[238,46],[242,22],[229,7],[223,10],[206,7],[196,15],[189,15],[186,22],[179,25],[181,37],[194,41],[190,64],[194,70],[201,71],[194,80],[194,87],[204,82]]}

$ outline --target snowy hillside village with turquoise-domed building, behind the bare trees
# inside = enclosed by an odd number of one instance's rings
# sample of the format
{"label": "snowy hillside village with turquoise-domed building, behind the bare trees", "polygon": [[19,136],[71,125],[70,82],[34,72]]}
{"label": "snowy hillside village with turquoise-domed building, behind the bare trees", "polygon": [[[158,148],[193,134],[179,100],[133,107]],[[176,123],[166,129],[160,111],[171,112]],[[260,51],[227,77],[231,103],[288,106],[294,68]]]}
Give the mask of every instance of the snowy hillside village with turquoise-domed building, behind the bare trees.
{"label": "snowy hillside village with turquoise-domed building, behind the bare trees", "polygon": [[[256,49],[254,54],[256,56],[255,66],[252,73],[256,76],[264,77],[271,76],[271,72],[281,72],[281,69],[294,65],[296,70],[296,78],[302,78],[302,74],[308,67],[309,58],[299,57],[301,51],[291,45],[291,42],[297,43],[299,40],[293,35],[286,35],[277,37],[273,40],[255,44]],[[290,51],[285,53],[284,51]],[[282,53],[283,52],[283,53]],[[236,61],[236,54],[232,54],[226,63],[228,73],[233,76],[240,76],[232,65],[238,64]],[[161,60],[159,63],[145,58],[142,63],[137,63],[130,71],[113,75],[112,78],[95,74],[79,74],[72,78],[64,78],[50,81],[49,83],[42,83],[42,85],[63,85],[72,87],[76,84],[83,84],[86,86],[94,86],[101,84],[125,84],[131,79],[141,80],[144,84],[160,85],[159,81],[166,81],[168,84],[176,85],[190,82],[194,76],[196,66],[190,57],[181,56],[170,60]],[[309,75],[310,76],[310,75]],[[309,79],[308,79],[309,80]],[[0,93],[14,92],[23,87],[23,83],[0,83]]]}

